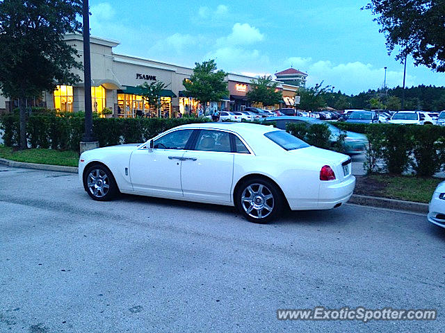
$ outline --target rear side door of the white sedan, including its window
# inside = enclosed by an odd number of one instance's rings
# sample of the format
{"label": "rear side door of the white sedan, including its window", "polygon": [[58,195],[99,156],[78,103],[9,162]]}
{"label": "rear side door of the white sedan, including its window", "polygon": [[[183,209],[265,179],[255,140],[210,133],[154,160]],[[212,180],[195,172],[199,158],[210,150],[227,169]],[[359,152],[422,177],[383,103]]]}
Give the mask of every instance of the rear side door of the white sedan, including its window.
{"label": "rear side door of the white sedan, including its window", "polygon": [[223,130],[199,131],[193,150],[183,155],[181,185],[184,198],[232,201],[234,141],[233,134]]}

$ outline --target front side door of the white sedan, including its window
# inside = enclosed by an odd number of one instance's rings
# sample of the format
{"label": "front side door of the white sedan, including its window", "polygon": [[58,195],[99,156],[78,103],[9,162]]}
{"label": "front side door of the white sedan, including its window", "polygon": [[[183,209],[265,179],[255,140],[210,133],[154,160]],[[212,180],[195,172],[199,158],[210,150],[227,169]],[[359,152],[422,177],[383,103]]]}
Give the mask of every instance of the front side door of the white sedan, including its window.
{"label": "front side door of the white sedan, including its window", "polygon": [[130,158],[133,190],[152,196],[181,197],[181,162],[193,130],[175,130],[140,148]]}

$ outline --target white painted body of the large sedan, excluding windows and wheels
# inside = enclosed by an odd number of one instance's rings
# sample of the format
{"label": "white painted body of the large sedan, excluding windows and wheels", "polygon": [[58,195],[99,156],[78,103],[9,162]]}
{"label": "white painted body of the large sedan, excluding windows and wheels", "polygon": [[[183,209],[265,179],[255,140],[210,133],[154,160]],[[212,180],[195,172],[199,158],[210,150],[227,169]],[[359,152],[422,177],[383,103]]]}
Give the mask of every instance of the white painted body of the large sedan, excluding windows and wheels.
{"label": "white painted body of the large sedan, excluding windows and wheels", "polygon": [[[234,205],[236,185],[252,175],[275,182],[291,210],[328,210],[346,203],[353,194],[350,157],[314,146],[288,151],[265,136],[275,131],[285,133],[272,126],[188,124],[161,133],[153,142],[179,130],[231,133],[248,153],[149,148],[151,140],[97,148],[81,154],[80,182],[83,184],[88,167],[100,163],[126,194]],[[324,166],[332,168],[334,180],[320,180]]]}

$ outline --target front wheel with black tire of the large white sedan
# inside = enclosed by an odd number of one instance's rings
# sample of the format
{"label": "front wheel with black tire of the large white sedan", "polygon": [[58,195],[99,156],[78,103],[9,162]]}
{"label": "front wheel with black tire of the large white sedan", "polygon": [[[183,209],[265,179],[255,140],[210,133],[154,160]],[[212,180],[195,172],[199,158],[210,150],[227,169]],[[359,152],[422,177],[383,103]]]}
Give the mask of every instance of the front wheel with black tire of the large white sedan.
{"label": "front wheel with black tire of the large white sedan", "polygon": [[97,201],[111,200],[119,192],[113,173],[103,164],[93,164],[88,167],[83,176],[83,188],[93,200]]}

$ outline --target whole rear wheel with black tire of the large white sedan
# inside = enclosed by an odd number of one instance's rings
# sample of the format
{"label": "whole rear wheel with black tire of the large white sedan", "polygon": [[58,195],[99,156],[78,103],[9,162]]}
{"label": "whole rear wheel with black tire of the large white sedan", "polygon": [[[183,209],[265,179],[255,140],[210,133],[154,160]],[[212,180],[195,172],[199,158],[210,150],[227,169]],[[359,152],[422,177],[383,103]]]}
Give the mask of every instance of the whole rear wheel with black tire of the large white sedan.
{"label": "whole rear wheel with black tire of the large white sedan", "polygon": [[243,182],[238,186],[234,200],[238,211],[253,223],[264,224],[277,219],[284,207],[280,189],[264,178],[250,178]]}

